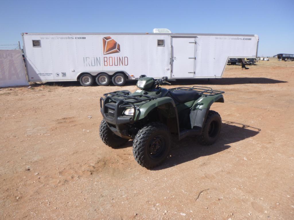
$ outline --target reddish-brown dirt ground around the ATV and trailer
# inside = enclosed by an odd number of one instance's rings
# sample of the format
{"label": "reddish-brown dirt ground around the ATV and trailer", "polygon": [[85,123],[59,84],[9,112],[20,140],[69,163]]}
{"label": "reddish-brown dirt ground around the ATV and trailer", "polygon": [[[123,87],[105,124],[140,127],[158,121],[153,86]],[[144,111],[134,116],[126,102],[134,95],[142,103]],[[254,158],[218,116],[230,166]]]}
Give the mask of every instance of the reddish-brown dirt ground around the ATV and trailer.
{"label": "reddish-brown dirt ground around the ATV and trailer", "polygon": [[225,91],[211,108],[223,124],[208,147],[174,138],[154,170],[136,163],[132,141],[99,138],[99,97],[134,82],[2,88],[0,219],[294,219],[294,62],[249,67],[164,86]]}

